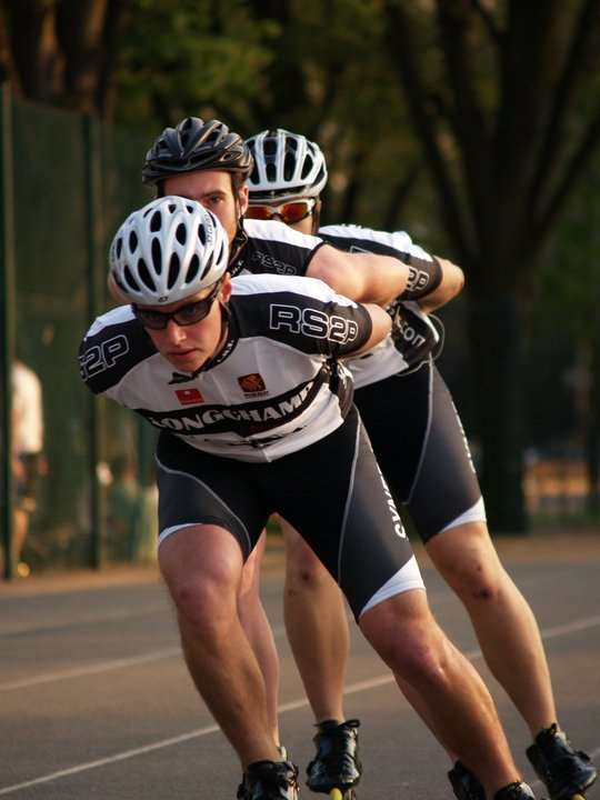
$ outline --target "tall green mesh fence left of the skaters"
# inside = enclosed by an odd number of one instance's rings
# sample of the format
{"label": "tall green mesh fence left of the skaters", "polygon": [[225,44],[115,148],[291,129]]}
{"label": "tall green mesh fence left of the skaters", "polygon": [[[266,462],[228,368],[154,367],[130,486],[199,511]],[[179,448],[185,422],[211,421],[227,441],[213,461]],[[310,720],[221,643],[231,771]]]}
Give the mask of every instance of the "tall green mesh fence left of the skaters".
{"label": "tall green mesh fence left of the skaters", "polygon": [[94,551],[102,562],[153,557],[153,433],[112,403],[94,406],[77,363],[90,309],[111,304],[108,243],[127,213],[150,199],[140,182],[149,139],[13,103],[14,353],[43,396],[46,462],[19,559],[34,571],[87,567]]}

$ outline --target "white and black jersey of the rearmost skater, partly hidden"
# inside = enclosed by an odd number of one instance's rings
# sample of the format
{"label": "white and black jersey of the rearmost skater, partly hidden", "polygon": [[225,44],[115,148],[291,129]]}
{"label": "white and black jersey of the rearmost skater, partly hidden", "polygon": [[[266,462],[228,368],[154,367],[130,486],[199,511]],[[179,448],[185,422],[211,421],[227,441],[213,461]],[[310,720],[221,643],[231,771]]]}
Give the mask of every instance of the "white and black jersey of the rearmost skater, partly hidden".
{"label": "white and black jersey of the rearmost skater, partly hidden", "polygon": [[[347,252],[393,256],[411,267],[413,283],[422,290],[428,288],[428,264],[434,257],[414,244],[404,231],[388,233],[359,226],[326,226],[319,229],[318,237]],[[348,361],[357,389],[417,367],[439,341],[438,331],[417,302],[396,300],[388,312],[393,320],[390,336],[369,352]]]}

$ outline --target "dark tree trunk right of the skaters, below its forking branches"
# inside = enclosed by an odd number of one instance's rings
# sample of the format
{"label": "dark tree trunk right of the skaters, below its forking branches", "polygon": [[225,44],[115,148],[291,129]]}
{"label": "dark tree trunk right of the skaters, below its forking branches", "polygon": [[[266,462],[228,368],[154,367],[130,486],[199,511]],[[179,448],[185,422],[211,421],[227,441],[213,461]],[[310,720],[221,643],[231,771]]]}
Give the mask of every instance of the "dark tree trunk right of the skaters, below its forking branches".
{"label": "dark tree trunk right of the skaters, below its forking branches", "polygon": [[517,298],[471,292],[469,334],[482,467],[479,472],[492,533],[526,533],[521,368],[523,328]]}

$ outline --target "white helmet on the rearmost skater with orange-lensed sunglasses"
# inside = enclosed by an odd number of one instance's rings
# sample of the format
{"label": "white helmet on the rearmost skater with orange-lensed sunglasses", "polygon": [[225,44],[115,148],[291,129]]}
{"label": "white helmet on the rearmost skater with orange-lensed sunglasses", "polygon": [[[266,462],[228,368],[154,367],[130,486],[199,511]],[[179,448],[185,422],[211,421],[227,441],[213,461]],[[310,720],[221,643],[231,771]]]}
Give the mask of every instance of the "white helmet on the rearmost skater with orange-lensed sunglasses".
{"label": "white helmet on the rearmost skater with orange-lensed sunglasses", "polygon": [[246,144],[254,159],[247,181],[250,204],[321,193],[327,183],[327,164],[314,142],[277,128],[257,133]]}

